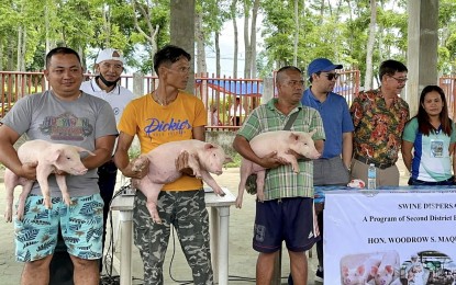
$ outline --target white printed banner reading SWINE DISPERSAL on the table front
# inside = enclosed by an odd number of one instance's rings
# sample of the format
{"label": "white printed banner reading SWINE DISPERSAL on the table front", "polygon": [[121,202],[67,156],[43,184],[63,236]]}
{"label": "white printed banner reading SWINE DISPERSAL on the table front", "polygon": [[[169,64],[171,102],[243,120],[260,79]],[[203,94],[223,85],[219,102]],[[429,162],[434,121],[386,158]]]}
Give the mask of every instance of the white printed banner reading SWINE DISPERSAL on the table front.
{"label": "white printed banner reading SWINE DISPERSAL on the table front", "polygon": [[456,191],[327,192],[323,241],[325,284],[456,284]]}

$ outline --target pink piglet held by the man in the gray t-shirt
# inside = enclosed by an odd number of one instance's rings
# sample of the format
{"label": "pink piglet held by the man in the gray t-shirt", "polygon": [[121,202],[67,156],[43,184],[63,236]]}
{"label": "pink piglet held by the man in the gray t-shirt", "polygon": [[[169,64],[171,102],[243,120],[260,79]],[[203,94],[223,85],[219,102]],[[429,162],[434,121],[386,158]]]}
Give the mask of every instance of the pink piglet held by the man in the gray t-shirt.
{"label": "pink piglet held by the man in the gray t-shirt", "polygon": [[[51,173],[55,173],[56,182],[62,191],[62,196],[66,205],[71,204],[68,194],[68,187],[65,180],[65,174],[57,174],[57,172],[66,172],[71,175],[84,175],[87,173],[87,168],[80,160],[80,152],[88,152],[94,156],[93,152],[81,147],[53,144],[42,139],[29,140],[18,149],[18,157],[21,163],[33,163],[36,166],[36,180],[43,194],[43,204],[46,208],[52,208],[49,184],[47,178]],[[12,220],[12,204],[14,187],[22,185],[23,190],[20,195],[18,204],[18,218],[22,219],[25,206],[25,198],[33,186],[32,180],[26,180],[14,174],[11,170],[4,171],[4,186],[7,190],[7,210],[4,217],[7,221]]]}

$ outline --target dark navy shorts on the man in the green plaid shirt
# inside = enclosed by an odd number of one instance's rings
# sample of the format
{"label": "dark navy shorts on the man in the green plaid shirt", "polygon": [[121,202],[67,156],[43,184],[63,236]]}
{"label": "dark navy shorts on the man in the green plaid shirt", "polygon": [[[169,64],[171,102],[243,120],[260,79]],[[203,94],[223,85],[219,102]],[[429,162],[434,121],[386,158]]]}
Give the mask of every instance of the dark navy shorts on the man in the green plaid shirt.
{"label": "dark navy shorts on the man in the green plaid shirt", "polygon": [[253,248],[271,253],[281,248],[307,251],[320,240],[313,200],[305,197],[256,202]]}

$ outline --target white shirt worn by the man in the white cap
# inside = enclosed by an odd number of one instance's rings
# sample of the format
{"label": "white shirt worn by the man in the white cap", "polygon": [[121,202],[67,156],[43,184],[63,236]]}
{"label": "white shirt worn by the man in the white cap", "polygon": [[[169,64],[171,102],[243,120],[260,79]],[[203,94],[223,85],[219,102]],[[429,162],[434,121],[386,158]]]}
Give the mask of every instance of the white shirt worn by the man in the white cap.
{"label": "white shirt worn by the man in the white cap", "polygon": [[116,124],[119,124],[126,104],[135,98],[132,91],[119,84],[115,86],[110,92],[107,92],[97,84],[96,78],[90,81],[82,82],[79,89],[90,95],[98,96],[107,101],[114,112]]}

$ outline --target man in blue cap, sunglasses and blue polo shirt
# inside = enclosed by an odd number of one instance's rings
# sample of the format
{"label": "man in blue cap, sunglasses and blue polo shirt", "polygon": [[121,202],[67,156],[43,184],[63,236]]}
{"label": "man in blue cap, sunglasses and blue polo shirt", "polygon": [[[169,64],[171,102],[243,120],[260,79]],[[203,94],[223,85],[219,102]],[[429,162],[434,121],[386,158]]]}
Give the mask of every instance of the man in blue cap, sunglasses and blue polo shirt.
{"label": "man in blue cap, sunglasses and blue polo shirt", "polygon": [[[353,152],[353,122],[345,98],[333,92],[338,75],[326,58],[316,58],[308,67],[311,83],[304,91],[301,103],[319,111],[326,140],[320,159],[313,161],[313,185],[346,185],[349,182],[349,166]],[[323,203],[315,204],[320,232],[323,236]],[[316,242],[319,267],[315,281],[323,282],[323,239]]]}

